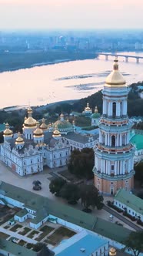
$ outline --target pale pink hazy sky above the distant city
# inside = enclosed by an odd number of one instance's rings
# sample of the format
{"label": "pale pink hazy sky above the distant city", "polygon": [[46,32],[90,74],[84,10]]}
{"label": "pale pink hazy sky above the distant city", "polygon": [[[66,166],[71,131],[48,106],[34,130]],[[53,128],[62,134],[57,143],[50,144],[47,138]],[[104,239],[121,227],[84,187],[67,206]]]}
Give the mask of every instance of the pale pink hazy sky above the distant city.
{"label": "pale pink hazy sky above the distant city", "polygon": [[143,29],[143,0],[0,0],[0,29]]}

